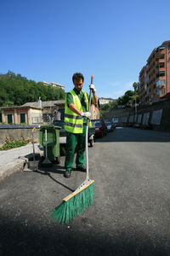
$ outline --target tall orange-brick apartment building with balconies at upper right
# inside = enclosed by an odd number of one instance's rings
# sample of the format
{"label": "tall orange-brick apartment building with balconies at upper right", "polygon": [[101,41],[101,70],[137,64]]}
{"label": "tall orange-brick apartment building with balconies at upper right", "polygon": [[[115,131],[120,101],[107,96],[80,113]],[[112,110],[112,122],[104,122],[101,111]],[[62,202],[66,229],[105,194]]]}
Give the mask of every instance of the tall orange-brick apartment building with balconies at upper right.
{"label": "tall orange-brick apartment building with balconies at upper right", "polygon": [[139,73],[139,104],[156,102],[170,92],[170,41],[153,49]]}

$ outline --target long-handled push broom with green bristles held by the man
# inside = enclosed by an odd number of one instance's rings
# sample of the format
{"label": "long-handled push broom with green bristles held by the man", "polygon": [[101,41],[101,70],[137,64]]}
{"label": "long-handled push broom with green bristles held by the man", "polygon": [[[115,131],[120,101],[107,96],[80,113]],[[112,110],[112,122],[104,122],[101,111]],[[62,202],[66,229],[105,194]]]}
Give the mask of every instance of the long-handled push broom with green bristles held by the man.
{"label": "long-handled push broom with green bristles held by the man", "polygon": [[[94,76],[91,76],[91,84],[93,84]],[[89,95],[90,111],[92,98],[92,91]],[[89,122],[89,119],[88,119]],[[94,199],[94,180],[91,180],[88,175],[88,123],[86,129],[86,178],[84,182],[70,195],[67,195],[63,202],[55,208],[51,218],[61,224],[67,224],[71,219],[77,217],[84,212],[92,203]]]}

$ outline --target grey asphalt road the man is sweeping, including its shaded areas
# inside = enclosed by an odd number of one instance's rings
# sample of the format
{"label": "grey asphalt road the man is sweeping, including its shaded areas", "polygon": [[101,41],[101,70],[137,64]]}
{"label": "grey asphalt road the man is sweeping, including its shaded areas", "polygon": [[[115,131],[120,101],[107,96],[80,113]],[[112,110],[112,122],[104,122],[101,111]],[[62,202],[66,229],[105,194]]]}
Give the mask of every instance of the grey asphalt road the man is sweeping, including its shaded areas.
{"label": "grey asphalt road the man is sweeping, including its shaded areas", "polygon": [[50,218],[82,182],[61,165],[0,183],[0,255],[170,255],[170,133],[117,128],[89,148],[94,204],[67,225]]}

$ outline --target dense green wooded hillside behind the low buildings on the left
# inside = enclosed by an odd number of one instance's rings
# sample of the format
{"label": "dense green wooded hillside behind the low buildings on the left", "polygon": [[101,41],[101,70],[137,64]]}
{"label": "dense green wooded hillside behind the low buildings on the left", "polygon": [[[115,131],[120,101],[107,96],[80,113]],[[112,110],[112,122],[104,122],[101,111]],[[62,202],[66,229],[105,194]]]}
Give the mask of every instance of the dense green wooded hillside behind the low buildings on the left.
{"label": "dense green wooded hillside behind the low buildings on the left", "polygon": [[42,82],[36,83],[28,80],[20,74],[8,71],[0,74],[0,107],[20,106],[26,102],[37,102],[41,97],[42,101],[56,101],[65,98],[65,91],[54,88],[52,85],[45,85]]}

